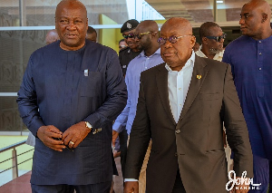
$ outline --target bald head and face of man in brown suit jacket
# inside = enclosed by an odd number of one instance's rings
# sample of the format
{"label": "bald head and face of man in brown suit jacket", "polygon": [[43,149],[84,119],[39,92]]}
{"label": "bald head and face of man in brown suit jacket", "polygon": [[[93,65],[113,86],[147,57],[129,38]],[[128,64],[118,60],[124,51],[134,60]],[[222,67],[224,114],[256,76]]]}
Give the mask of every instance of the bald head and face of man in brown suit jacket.
{"label": "bald head and face of man in brown suit jacket", "polygon": [[166,43],[160,45],[161,58],[173,71],[180,71],[189,60],[192,47],[196,42],[195,36],[189,34],[192,34],[192,28],[189,21],[184,18],[171,18],[161,27],[160,37],[162,38],[184,35],[176,43],[170,43],[167,40]]}

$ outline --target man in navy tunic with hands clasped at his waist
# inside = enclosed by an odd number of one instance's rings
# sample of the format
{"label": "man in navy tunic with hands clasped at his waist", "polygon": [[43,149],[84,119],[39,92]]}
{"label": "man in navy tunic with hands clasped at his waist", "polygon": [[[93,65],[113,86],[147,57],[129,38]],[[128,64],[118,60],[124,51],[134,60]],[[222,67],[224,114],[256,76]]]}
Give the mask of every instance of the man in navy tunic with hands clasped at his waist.
{"label": "man in navy tunic with hands clasped at his waist", "polygon": [[55,12],[60,41],[36,50],[18,92],[20,115],[34,134],[33,193],[109,193],[112,121],[127,101],[111,48],[86,40],[88,18],[77,0]]}

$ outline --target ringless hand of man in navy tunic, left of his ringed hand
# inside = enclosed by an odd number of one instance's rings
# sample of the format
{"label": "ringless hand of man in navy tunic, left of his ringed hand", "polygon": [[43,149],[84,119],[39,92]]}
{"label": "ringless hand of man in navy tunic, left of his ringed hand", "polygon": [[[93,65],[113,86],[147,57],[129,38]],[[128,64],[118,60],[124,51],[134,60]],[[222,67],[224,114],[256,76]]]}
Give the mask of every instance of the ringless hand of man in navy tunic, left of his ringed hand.
{"label": "ringless hand of man in navy tunic, left of his ringed hand", "polygon": [[53,125],[42,126],[37,131],[37,137],[44,142],[44,145],[57,151],[63,151],[66,148],[63,140],[55,140],[62,139],[62,134],[63,132]]}

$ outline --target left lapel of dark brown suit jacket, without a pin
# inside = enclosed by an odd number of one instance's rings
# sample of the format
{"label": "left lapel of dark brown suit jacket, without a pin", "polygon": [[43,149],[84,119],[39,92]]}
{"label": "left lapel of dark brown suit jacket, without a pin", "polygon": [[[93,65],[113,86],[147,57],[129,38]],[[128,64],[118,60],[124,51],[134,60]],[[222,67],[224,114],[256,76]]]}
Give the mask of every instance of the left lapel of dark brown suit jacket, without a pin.
{"label": "left lapel of dark brown suit jacket, without a pin", "polygon": [[157,90],[159,92],[160,101],[166,111],[170,121],[177,124],[170,109],[169,93],[168,93],[168,71],[165,68],[165,63],[160,64],[159,72],[156,74]]}

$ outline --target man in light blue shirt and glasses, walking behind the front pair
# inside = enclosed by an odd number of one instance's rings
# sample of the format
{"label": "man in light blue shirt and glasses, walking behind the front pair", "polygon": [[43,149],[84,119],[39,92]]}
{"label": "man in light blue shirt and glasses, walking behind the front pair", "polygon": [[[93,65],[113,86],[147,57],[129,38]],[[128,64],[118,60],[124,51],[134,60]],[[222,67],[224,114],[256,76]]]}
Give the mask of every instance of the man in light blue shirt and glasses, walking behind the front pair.
{"label": "man in light blue shirt and glasses, walking behind the front pair", "polygon": [[[136,114],[141,72],[150,69],[151,67],[160,63],[163,63],[160,57],[160,46],[157,43],[158,37],[158,24],[151,20],[145,20],[141,22],[135,30],[135,42],[140,43],[142,52],[131,61],[128,67],[128,71],[125,77],[125,82],[128,89],[128,101],[126,107],[113,124],[113,143],[118,134],[123,129],[122,125],[126,125],[126,130],[129,135],[131,133],[131,124]],[[142,167],[139,183],[140,192],[142,193],[145,192],[146,166],[149,159],[150,150],[151,143],[149,150],[146,151],[144,163],[141,164]]]}

